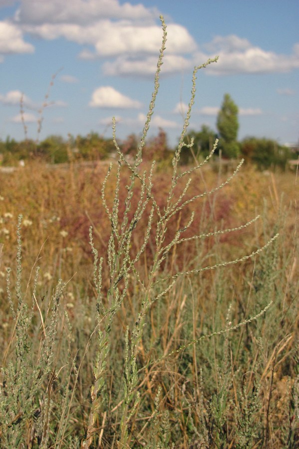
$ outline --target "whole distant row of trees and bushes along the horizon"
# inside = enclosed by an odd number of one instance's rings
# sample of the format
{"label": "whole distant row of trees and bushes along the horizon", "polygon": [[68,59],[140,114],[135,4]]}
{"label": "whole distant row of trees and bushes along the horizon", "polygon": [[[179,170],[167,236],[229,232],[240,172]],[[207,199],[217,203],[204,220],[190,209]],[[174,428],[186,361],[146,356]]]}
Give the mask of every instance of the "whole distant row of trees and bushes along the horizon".
{"label": "whole distant row of trees and bushes along the horizon", "polygon": [[[246,137],[238,141],[239,118],[238,106],[229,94],[224,99],[217,116],[217,132],[207,125],[200,130],[191,130],[186,135],[186,143],[193,139],[193,147],[184,147],[181,153],[181,164],[187,165],[194,157],[203,159],[211,152],[214,142],[219,139],[216,155],[220,154],[226,159],[243,157],[246,162],[254,164],[258,169],[265,170],[270,167],[285,168],[287,161],[292,159],[292,151],[277,141],[267,138]],[[124,154],[134,155],[139,145],[139,136],[130,134],[122,142],[118,142]],[[167,135],[159,129],[157,136],[148,140],[144,158],[149,160],[170,161],[174,149],[167,142]],[[30,139],[17,142],[7,137],[0,140],[0,164],[15,165],[19,161],[39,159],[50,164],[69,162],[70,160],[103,160],[115,153],[113,140],[91,132],[87,136],[69,135],[68,139],[51,135],[41,142]],[[294,156],[293,156],[294,157]]]}

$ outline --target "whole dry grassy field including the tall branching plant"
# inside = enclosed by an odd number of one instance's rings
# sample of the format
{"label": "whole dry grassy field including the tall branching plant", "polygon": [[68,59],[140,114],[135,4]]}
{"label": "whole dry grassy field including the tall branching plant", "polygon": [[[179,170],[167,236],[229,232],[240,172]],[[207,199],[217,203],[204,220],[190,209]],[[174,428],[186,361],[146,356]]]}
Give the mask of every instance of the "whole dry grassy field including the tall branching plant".
{"label": "whole dry grassy field including the tall branching plant", "polygon": [[3,448],[298,447],[297,176],[194,151],[213,61],[146,145],[162,25],[133,154],[0,172]]}

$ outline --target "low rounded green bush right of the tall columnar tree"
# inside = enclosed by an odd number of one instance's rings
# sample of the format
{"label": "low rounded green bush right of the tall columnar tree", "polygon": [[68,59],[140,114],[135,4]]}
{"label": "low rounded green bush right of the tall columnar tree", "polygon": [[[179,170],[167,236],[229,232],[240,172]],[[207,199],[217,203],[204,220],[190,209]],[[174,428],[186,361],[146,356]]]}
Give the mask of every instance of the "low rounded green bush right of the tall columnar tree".
{"label": "low rounded green bush right of the tall columnar tree", "polygon": [[240,143],[240,147],[245,160],[255,164],[259,170],[276,167],[285,169],[292,156],[289,148],[272,139],[247,137]]}

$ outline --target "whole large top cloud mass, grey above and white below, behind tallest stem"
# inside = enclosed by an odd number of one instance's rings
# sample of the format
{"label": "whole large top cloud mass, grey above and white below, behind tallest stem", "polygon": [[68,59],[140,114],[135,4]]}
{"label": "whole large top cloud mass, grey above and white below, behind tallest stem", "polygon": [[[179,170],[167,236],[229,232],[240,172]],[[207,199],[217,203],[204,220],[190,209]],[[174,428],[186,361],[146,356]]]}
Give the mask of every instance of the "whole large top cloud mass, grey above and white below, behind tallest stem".
{"label": "whole large top cloud mass, grey above and white below, behind tallest stem", "polygon": [[[22,0],[14,16],[24,33],[46,40],[64,38],[83,46],[82,59],[110,58],[106,74],[151,74],[161,46],[159,12],[144,5],[119,0]],[[167,26],[168,71],[176,72],[188,61],[182,57],[197,50],[188,30],[177,23]],[[148,56],[155,55],[151,59]],[[111,58],[116,58],[111,61]],[[120,58],[120,59],[118,59]],[[166,66],[166,58],[164,61]]]}

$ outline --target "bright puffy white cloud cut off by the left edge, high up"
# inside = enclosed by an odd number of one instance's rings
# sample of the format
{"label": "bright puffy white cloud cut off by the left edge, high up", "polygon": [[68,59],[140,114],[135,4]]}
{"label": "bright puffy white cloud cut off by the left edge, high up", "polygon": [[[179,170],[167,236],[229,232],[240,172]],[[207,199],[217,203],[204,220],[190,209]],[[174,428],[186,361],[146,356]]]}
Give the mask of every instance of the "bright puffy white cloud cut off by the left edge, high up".
{"label": "bright puffy white cloud cut off by the left edge, high up", "polygon": [[7,21],[0,21],[0,53],[33,53],[33,45],[24,42],[19,27]]}

